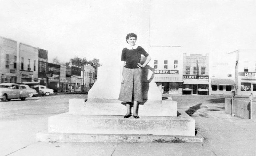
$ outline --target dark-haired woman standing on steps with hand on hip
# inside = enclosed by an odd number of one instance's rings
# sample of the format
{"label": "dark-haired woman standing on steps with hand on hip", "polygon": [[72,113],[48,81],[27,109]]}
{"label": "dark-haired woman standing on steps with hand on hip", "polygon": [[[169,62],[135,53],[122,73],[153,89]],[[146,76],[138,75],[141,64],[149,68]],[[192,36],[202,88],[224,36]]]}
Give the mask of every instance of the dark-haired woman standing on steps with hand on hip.
{"label": "dark-haired woman standing on steps with hand on hip", "polygon": [[[123,49],[121,56],[121,90],[118,100],[126,102],[127,113],[124,118],[131,116],[133,102],[133,116],[138,119],[138,102],[143,102],[142,68],[149,63],[151,57],[142,47],[135,45],[136,40],[136,34],[126,35],[128,45]],[[141,55],[146,57],[143,64],[140,64]]]}

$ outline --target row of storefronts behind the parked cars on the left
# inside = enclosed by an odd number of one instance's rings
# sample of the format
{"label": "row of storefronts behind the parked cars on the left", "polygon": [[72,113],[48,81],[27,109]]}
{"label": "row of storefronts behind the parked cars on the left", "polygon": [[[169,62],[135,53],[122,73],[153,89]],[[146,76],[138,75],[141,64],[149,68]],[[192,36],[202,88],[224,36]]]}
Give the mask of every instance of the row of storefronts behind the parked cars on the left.
{"label": "row of storefronts behind the parked cars on the left", "polygon": [[0,37],[0,83],[44,85],[55,92],[83,91],[95,81],[94,68],[85,66],[48,63],[47,50]]}

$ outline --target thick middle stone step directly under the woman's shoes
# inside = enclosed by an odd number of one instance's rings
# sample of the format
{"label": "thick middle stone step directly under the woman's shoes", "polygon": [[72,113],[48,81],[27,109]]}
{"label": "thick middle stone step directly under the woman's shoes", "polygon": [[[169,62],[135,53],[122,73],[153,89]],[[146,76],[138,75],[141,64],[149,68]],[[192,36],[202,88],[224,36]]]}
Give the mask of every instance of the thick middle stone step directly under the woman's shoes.
{"label": "thick middle stone step directly under the woman's shoes", "polygon": [[185,112],[178,117],[140,116],[139,119],[63,113],[49,117],[48,132],[195,136],[195,120]]}

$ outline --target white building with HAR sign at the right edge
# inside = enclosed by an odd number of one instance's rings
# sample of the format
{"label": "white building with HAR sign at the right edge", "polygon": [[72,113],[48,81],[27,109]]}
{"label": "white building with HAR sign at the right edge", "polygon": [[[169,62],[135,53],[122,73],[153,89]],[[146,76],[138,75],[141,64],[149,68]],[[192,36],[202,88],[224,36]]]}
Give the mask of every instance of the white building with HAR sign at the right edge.
{"label": "white building with HAR sign at the right edge", "polygon": [[237,50],[235,57],[235,88],[237,95],[256,94],[256,50]]}

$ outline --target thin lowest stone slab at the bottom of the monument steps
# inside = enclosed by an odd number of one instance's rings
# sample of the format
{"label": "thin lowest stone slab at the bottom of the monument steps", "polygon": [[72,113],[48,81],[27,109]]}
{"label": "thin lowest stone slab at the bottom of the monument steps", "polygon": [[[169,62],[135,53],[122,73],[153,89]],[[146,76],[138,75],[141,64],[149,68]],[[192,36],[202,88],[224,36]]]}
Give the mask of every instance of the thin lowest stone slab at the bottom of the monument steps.
{"label": "thin lowest stone slab at the bottom of the monument steps", "polygon": [[168,135],[124,135],[124,134],[74,134],[47,133],[36,134],[36,141],[42,142],[203,142],[200,134],[196,136]]}

